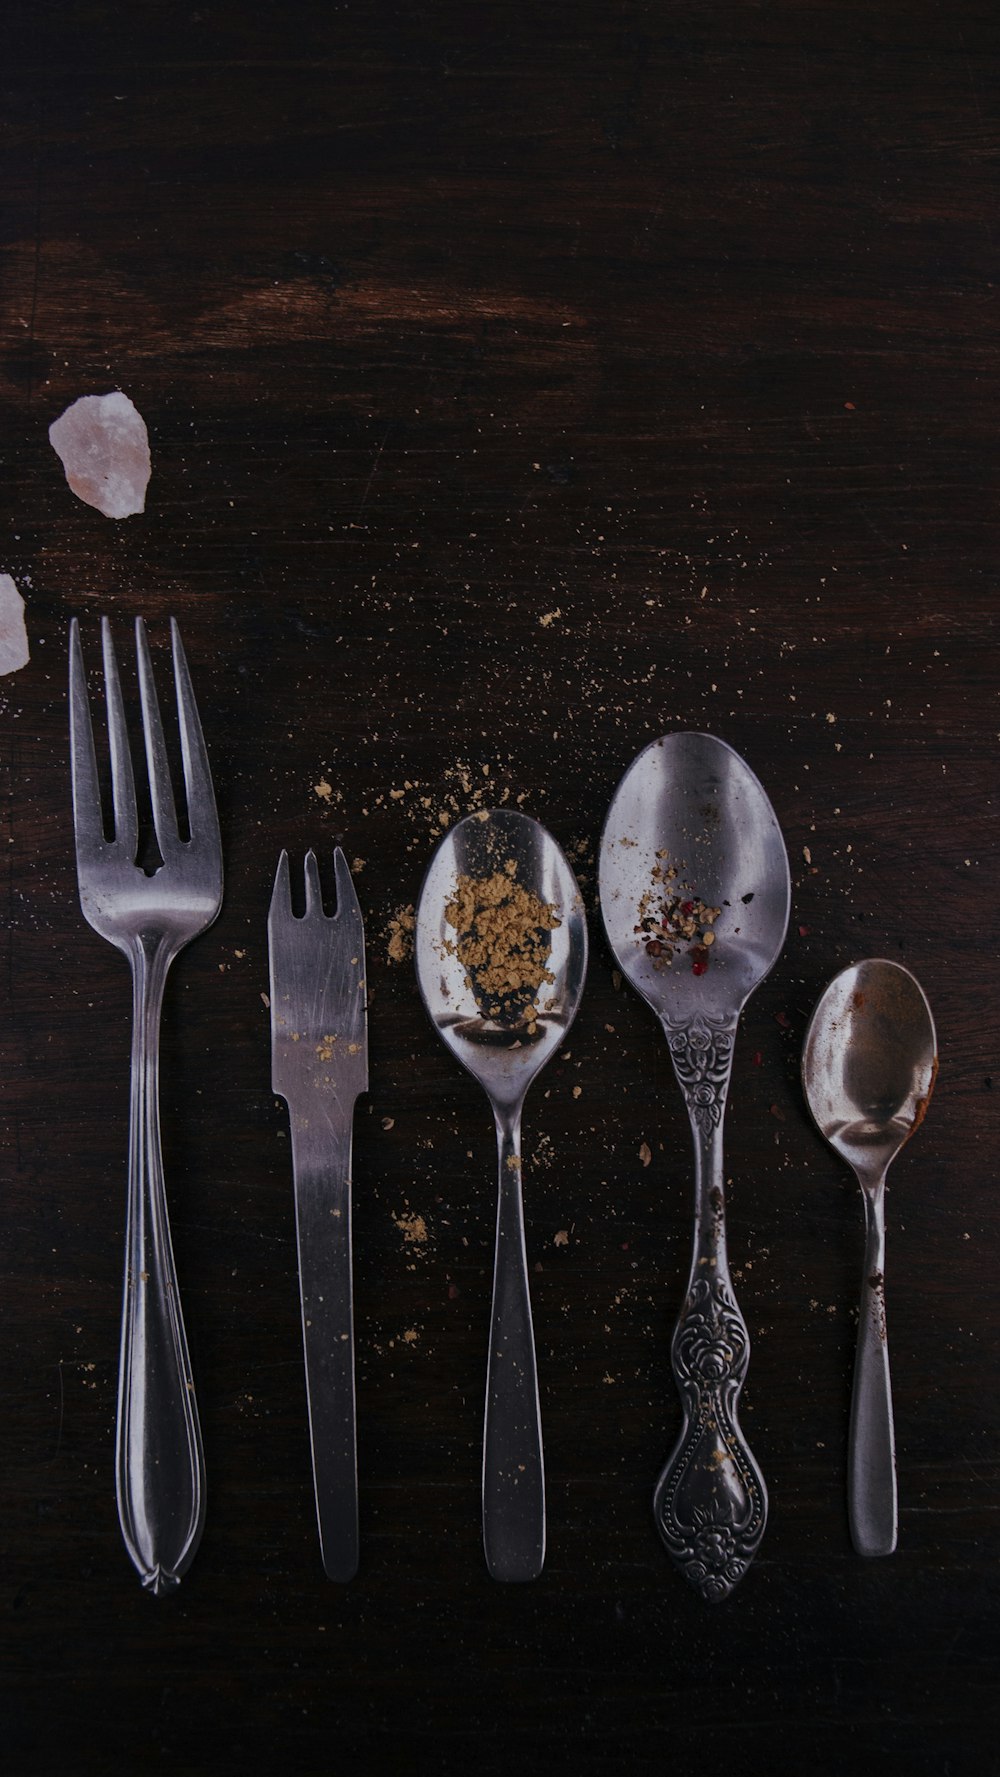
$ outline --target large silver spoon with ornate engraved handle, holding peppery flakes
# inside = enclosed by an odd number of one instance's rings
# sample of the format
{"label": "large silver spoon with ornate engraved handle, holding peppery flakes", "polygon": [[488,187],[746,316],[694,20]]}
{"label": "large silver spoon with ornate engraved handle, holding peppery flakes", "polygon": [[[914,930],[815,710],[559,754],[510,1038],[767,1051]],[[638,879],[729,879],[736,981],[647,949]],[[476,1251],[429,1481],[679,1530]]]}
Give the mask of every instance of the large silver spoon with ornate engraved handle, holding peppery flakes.
{"label": "large silver spoon with ornate engraved handle, holding peppery flakes", "polygon": [[710,1601],[742,1578],[767,1521],[737,1420],[750,1338],[726,1260],[723,1114],[739,1013],[782,951],[789,904],[782,832],[739,753],[712,734],[647,746],[604,823],[600,910],[622,972],[663,1024],[694,1139],[694,1251],[671,1345],[684,1425],[654,1516]]}

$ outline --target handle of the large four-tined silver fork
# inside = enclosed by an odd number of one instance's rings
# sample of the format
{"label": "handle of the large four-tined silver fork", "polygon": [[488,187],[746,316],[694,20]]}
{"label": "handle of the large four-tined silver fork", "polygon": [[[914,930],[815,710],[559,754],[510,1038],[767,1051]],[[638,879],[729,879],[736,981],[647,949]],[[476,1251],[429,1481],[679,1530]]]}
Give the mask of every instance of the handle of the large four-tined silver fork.
{"label": "handle of the large four-tined silver fork", "polygon": [[204,1455],[160,1151],[160,1011],[172,951],[140,933],[133,981],[126,1269],[117,1395],[117,1509],[142,1585],[178,1585],[204,1526]]}

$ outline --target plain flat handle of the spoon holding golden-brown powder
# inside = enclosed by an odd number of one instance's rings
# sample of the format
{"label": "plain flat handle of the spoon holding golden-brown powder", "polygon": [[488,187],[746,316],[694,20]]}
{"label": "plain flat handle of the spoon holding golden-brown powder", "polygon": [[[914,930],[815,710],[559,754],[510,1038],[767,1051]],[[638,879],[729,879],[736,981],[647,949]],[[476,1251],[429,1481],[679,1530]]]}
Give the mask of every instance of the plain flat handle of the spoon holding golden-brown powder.
{"label": "plain flat handle of the spoon holding golden-brown powder", "polygon": [[520,1109],[496,1112],[497,1246],[483,1430],[483,1548],[494,1580],[536,1580],[545,1470],[520,1198]]}

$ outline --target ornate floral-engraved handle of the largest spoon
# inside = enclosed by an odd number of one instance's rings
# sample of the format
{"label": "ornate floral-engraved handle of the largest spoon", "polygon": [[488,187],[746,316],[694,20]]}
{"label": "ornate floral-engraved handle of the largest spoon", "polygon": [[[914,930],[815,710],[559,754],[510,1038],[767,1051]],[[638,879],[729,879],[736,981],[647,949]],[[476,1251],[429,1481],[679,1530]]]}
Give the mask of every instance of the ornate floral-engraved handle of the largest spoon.
{"label": "ornate floral-engraved handle of the largest spoon", "polygon": [[654,1494],[657,1530],[702,1598],[728,1598],[767,1521],[767,1489],[739,1429],[750,1361],[726,1260],[723,1112],[737,1018],[663,1020],[694,1137],[694,1249],[673,1333],[684,1427]]}

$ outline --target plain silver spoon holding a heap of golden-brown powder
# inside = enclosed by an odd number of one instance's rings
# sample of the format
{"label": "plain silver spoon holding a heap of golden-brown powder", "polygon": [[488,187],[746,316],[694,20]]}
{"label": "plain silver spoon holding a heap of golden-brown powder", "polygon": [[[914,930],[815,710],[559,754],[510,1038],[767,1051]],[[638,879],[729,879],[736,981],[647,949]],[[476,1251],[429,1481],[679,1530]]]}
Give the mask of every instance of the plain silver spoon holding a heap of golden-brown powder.
{"label": "plain silver spoon holding a heap of golden-brown powder", "polygon": [[[512,871],[513,864],[513,871]],[[558,924],[533,935],[549,979],[533,993],[499,993],[488,965],[458,956],[455,913],[460,878],[497,874],[552,908]],[[503,942],[497,954],[508,954]],[[421,888],[416,917],[417,981],[448,1048],[487,1093],[496,1120],[499,1187],[494,1304],[483,1429],[483,1546],[494,1580],[535,1580],[545,1560],[545,1471],[535,1370],[535,1336],[520,1194],[520,1107],[540,1068],[574,1020],[586,974],[586,919],[575,876],[560,846],[526,814],[471,814],[442,839]],[[536,1008],[536,1015],[531,1013]]]}

